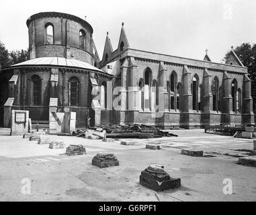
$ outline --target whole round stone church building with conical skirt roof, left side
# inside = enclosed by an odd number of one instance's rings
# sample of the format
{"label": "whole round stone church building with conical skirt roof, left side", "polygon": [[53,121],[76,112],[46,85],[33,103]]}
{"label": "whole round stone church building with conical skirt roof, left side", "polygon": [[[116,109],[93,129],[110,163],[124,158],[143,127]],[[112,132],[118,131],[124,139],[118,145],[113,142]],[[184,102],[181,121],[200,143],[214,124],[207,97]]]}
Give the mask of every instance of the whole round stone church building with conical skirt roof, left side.
{"label": "whole round stone church building with conical skirt roof, left side", "polygon": [[112,75],[97,68],[91,25],[56,12],[37,13],[26,24],[30,60],[0,71],[0,126],[10,127],[11,110],[28,110],[32,125],[57,124],[62,126],[59,132],[65,131],[65,120],[73,120],[75,128],[86,128],[88,119],[90,126],[99,124],[93,86]]}

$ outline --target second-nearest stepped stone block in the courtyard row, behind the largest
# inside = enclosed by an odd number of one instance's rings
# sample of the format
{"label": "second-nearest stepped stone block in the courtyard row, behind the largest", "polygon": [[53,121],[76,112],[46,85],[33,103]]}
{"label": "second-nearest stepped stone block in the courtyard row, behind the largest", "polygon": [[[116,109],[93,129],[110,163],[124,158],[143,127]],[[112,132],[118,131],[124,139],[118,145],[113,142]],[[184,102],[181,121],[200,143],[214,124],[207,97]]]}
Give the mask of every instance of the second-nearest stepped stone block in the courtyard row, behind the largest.
{"label": "second-nearest stepped stone block in the courtyard row, behind the largest", "polygon": [[91,163],[99,168],[114,167],[119,165],[119,161],[113,153],[97,153],[97,155],[93,157]]}

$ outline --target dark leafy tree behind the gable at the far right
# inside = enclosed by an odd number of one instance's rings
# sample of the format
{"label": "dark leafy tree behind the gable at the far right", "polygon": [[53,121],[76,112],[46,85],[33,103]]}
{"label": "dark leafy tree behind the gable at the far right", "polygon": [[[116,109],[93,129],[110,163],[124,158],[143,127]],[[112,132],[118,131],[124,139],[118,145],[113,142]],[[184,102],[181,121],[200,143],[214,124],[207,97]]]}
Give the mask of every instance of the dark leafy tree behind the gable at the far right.
{"label": "dark leafy tree behind the gable at the far right", "polygon": [[[226,53],[224,60],[228,58],[231,51]],[[249,42],[243,43],[234,48],[234,53],[237,54],[245,67],[248,67],[249,77],[252,81],[256,81],[256,44],[251,45]]]}

